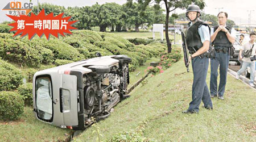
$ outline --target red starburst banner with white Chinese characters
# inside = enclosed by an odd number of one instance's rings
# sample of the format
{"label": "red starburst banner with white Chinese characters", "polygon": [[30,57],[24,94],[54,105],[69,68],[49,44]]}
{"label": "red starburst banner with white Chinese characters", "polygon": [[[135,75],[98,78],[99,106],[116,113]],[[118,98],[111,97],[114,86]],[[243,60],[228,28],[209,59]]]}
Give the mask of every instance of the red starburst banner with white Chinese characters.
{"label": "red starburst banner with white Chinese characters", "polygon": [[20,35],[20,37],[24,37],[28,35],[28,39],[31,40],[35,34],[39,37],[42,37],[44,34],[49,40],[50,35],[55,37],[58,37],[58,34],[65,36],[64,33],[72,34],[69,30],[77,29],[72,27],[72,24],[76,23],[78,20],[68,21],[71,16],[63,18],[63,14],[64,13],[53,16],[53,12],[51,12],[46,15],[43,9],[38,15],[31,12],[31,16],[7,16],[15,21],[15,23],[9,24],[9,26],[14,27],[10,31],[16,31],[14,36]]}

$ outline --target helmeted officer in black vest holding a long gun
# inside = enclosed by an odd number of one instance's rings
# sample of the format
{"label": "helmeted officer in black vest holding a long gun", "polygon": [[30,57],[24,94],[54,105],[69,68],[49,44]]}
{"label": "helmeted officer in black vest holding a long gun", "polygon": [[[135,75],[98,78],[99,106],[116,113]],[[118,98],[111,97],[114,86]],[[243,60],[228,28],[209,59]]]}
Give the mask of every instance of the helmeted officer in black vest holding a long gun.
{"label": "helmeted officer in black vest holding a long gun", "polygon": [[208,24],[199,20],[200,8],[197,5],[189,5],[186,16],[191,21],[188,23],[185,39],[191,56],[193,69],[192,101],[189,103],[188,110],[182,111],[184,114],[199,112],[201,101],[204,107],[212,110],[212,100],[210,99],[209,89],[206,83],[209,59],[205,57],[205,52],[210,46],[210,28]]}

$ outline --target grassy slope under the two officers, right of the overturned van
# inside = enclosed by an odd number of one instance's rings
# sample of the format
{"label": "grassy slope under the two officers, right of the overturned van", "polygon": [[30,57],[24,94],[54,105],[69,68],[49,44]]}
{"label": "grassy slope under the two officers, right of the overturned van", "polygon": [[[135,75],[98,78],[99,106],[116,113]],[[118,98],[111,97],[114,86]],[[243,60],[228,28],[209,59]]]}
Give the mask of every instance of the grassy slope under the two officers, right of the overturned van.
{"label": "grassy slope under the two officers, right of the overturned van", "polygon": [[[158,141],[256,141],[256,91],[229,75],[225,100],[214,98],[212,111],[200,107],[198,115],[181,114],[191,101],[193,74],[185,70],[181,60],[138,86],[98,123],[101,140],[148,120],[143,135]],[[96,141],[94,130],[88,128],[75,141]]]}

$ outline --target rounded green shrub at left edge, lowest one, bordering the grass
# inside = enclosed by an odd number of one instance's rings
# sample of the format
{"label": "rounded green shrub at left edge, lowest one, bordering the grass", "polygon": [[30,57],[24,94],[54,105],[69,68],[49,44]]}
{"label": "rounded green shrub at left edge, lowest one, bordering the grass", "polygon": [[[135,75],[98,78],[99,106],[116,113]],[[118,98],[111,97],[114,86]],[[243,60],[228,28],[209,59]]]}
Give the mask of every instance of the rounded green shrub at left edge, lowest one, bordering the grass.
{"label": "rounded green shrub at left edge, lowest one, bordering the grass", "polygon": [[0,120],[16,120],[24,112],[23,97],[12,91],[0,91]]}

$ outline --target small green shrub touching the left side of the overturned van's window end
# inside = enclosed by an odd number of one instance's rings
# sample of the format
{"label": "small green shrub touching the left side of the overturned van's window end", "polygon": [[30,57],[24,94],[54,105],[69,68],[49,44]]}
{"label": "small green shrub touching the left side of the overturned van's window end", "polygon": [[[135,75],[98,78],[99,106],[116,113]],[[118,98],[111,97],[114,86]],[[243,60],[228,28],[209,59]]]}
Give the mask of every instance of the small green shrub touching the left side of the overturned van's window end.
{"label": "small green shrub touching the left side of the overturned van's window end", "polygon": [[18,93],[24,99],[24,105],[33,106],[32,83],[22,84],[18,87]]}

